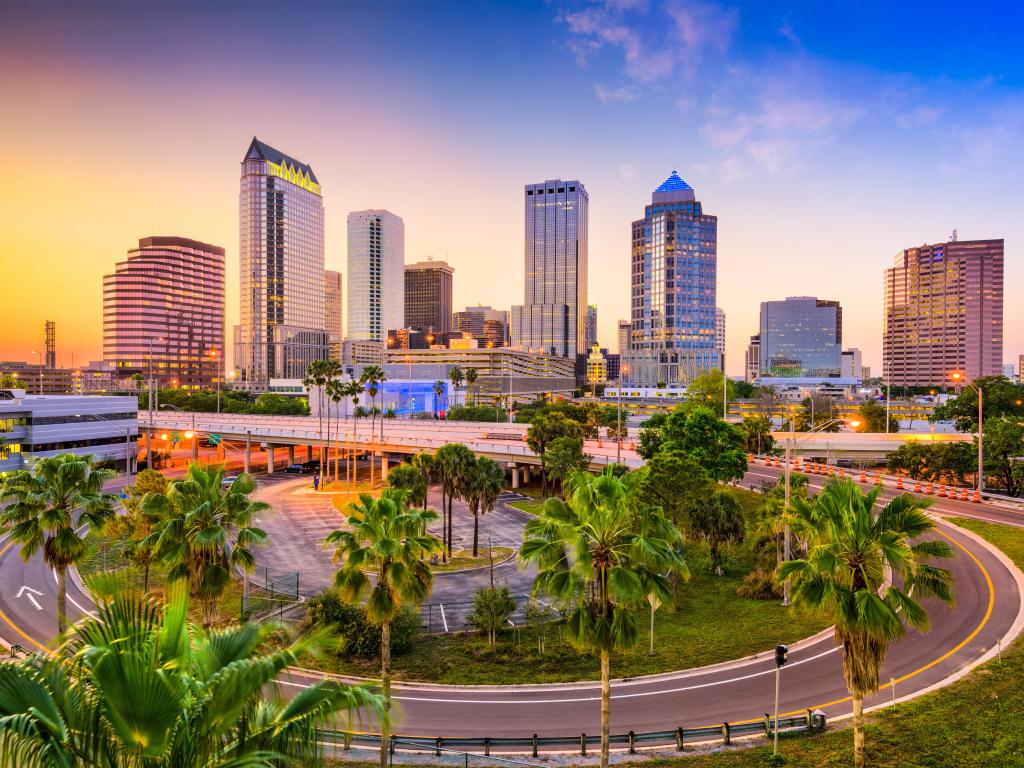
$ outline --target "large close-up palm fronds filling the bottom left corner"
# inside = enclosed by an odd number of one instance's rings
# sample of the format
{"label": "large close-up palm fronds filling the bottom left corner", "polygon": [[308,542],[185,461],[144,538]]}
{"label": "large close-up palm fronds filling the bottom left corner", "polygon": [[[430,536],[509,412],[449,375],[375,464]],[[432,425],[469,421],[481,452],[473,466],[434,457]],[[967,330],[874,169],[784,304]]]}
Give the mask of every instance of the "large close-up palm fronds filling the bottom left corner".
{"label": "large close-up palm fronds filling the bottom left corner", "polygon": [[186,591],[159,606],[101,599],[61,652],[0,664],[0,764],[16,766],[322,765],[317,730],[386,716],[366,688],[322,681],[284,700],[273,685],[308,640],[262,652],[274,631],[205,633]]}

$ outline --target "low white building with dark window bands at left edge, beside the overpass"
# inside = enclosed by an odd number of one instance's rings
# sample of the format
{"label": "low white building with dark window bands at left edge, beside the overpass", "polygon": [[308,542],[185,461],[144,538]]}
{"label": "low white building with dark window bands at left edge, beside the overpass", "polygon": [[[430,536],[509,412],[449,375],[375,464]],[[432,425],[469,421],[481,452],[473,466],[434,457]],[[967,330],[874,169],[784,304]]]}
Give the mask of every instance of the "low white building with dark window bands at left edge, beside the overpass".
{"label": "low white building with dark window bands at left edge, beside the overpass", "polygon": [[39,395],[0,389],[0,473],[34,458],[78,454],[134,470],[138,440],[135,397]]}

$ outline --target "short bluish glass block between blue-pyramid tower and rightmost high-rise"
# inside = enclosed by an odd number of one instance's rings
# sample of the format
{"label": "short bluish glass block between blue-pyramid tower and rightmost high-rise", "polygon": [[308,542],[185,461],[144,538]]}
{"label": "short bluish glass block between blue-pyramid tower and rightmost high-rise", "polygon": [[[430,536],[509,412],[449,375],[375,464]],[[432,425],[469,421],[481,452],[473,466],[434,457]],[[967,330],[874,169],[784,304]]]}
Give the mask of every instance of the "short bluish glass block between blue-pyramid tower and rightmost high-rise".
{"label": "short bluish glass block between blue-pyramid tower and rightmost high-rise", "polygon": [[843,309],[838,301],[792,296],[761,302],[761,378],[838,378]]}

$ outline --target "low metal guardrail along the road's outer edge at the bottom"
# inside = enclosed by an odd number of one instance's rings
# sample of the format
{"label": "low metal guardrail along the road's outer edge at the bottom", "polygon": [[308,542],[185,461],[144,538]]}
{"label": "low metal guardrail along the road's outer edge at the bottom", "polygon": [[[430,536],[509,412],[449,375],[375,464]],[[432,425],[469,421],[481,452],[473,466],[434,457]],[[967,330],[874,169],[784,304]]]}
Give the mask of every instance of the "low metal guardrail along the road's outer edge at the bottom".
{"label": "low metal guardrail along the road's outer edge at the bottom", "polygon": [[[825,714],[820,710],[811,712],[807,710],[805,714],[795,717],[784,717],[778,719],[779,735],[799,735],[820,733],[825,729]],[[771,737],[774,735],[775,720],[769,715],[765,715],[762,720],[748,720],[737,723],[722,723],[721,725],[709,725],[698,728],[685,728],[679,726],[669,731],[649,731],[637,733],[627,731],[626,733],[614,733],[609,736],[609,744],[614,750],[626,750],[629,754],[636,754],[642,746],[668,746],[682,752],[688,743],[721,741],[723,744],[731,743],[732,739],[738,736],[764,735]],[[353,746],[380,749],[381,737],[377,733],[354,733],[341,730],[321,730],[318,740],[325,744],[330,744],[343,750],[350,750]],[[503,754],[528,754],[538,757],[542,752],[566,752],[579,751],[582,757],[586,757],[588,751],[600,748],[600,735],[579,733],[571,736],[539,736],[534,733],[525,737],[465,737],[465,736],[436,736],[434,738],[423,736],[402,736],[393,735],[389,739],[389,753],[393,756],[395,752],[418,752],[433,753],[435,757],[440,757],[444,752],[459,752],[467,757],[492,758],[492,752]],[[480,750],[482,754],[474,755],[469,750]],[[467,762],[468,765],[468,762]]]}

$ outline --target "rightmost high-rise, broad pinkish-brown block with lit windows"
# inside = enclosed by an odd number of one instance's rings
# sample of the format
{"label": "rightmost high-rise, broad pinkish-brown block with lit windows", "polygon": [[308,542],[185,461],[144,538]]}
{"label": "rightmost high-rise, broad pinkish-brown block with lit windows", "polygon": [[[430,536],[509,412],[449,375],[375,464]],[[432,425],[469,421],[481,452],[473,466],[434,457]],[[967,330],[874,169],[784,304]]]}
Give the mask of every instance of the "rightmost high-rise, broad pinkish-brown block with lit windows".
{"label": "rightmost high-rise, broad pinkish-brown block with lit windows", "polygon": [[1002,241],[908,248],[886,270],[883,380],[935,387],[1002,366]]}

